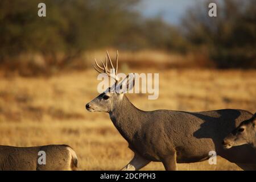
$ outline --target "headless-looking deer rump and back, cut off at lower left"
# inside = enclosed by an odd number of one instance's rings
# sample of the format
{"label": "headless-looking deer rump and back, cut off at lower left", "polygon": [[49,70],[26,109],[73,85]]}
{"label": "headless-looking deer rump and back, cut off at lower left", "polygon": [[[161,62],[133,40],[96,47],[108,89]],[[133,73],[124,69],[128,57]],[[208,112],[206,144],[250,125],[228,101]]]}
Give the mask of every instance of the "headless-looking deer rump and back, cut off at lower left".
{"label": "headless-looking deer rump and back, cut off at lower left", "polygon": [[[46,163],[39,164],[39,151],[46,154]],[[1,171],[69,171],[77,169],[75,151],[67,145],[37,147],[0,146]]]}

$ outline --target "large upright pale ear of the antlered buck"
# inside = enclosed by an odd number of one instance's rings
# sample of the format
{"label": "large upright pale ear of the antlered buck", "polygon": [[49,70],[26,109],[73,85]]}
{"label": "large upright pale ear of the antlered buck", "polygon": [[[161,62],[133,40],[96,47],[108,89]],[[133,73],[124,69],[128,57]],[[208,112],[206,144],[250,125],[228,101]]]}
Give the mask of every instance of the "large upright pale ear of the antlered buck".
{"label": "large upright pale ear of the antlered buck", "polygon": [[129,90],[133,89],[135,84],[135,74],[129,73],[125,79],[123,79],[117,86],[115,86],[115,92],[127,93]]}

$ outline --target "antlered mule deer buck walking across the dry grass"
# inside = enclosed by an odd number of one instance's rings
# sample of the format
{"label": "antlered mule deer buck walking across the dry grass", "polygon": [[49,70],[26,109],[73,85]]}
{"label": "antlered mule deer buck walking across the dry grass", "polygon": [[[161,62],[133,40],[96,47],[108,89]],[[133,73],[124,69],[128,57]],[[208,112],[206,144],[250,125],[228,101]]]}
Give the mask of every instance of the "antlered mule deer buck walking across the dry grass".
{"label": "antlered mule deer buck walking across the dry grass", "polygon": [[[88,111],[109,113],[110,119],[134,152],[134,158],[123,170],[138,170],[151,161],[162,162],[166,170],[176,170],[176,163],[193,163],[209,159],[209,151],[236,163],[242,169],[256,169],[256,154],[250,146],[224,150],[222,139],[242,121],[251,118],[251,113],[238,109],[223,109],[201,112],[154,110],[143,111],[126,97],[135,75],[130,73],[119,81],[109,53],[106,63],[97,63],[94,69],[115,79],[115,84],[88,104]],[[107,63],[110,63],[112,72]],[[114,70],[114,73],[113,73]],[[112,73],[112,74],[111,74]],[[123,86],[126,85],[126,86]],[[130,86],[131,85],[131,86]],[[117,90],[115,88],[121,88]],[[241,155],[243,154],[243,155]]]}

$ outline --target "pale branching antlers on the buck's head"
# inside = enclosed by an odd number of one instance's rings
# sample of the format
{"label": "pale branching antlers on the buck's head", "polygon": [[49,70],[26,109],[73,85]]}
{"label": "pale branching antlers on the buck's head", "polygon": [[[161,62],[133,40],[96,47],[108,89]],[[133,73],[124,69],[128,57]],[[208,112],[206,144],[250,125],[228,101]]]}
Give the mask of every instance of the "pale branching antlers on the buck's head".
{"label": "pale branching antlers on the buck's head", "polygon": [[[96,65],[93,64],[93,68],[94,68],[97,72],[99,72],[99,73],[104,73],[104,74],[108,75],[109,77],[113,78],[113,79],[115,80],[115,82],[118,82],[118,81],[119,81],[119,77],[117,76],[118,51],[117,51],[117,59],[116,59],[116,61],[115,61],[115,62],[116,62],[115,68],[114,68],[114,66],[113,66],[113,64],[112,64],[112,61],[111,61],[111,59],[110,59],[109,52],[106,51],[106,53],[107,53],[107,56],[108,56],[108,58],[105,57],[105,58],[106,58],[106,64],[104,64],[104,63],[101,61],[102,66],[103,66],[103,67],[101,67],[101,66],[97,63],[97,60],[94,59]],[[113,70],[113,71],[114,71],[113,73],[110,72],[109,69],[108,69],[108,60],[109,60],[109,63],[110,63],[110,65],[111,65],[111,69],[110,69],[110,70]],[[96,68],[96,67],[97,67],[97,68]]]}

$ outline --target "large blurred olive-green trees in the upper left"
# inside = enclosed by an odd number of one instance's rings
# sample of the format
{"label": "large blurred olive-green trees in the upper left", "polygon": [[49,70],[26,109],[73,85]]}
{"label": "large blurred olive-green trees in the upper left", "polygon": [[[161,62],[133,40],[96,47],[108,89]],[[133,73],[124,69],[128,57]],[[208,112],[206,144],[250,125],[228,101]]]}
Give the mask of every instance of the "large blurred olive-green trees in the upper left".
{"label": "large blurred olive-green trees in the upper left", "polygon": [[[111,46],[133,16],[130,7],[137,1],[44,1],[47,17],[37,16],[41,1],[1,1],[1,60],[22,52],[40,52],[61,63],[87,49]],[[131,22],[131,21],[130,21]]]}

